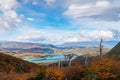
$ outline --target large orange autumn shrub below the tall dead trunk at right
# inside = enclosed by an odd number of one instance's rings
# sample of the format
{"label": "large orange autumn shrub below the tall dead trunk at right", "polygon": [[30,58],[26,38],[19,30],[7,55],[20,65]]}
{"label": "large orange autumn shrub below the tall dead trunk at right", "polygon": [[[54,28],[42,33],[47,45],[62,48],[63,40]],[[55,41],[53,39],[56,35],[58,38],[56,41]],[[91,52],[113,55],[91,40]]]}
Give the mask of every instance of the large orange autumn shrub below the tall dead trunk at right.
{"label": "large orange autumn shrub below the tall dead trunk at right", "polygon": [[108,57],[95,58],[88,67],[88,71],[93,71],[101,80],[107,80],[117,76],[112,72],[114,64],[115,61]]}

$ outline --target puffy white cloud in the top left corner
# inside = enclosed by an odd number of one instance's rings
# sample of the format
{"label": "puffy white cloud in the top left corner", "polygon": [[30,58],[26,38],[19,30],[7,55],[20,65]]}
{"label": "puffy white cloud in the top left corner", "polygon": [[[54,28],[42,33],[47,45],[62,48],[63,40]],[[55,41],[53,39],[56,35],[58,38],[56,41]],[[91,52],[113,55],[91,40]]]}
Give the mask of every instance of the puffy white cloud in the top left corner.
{"label": "puffy white cloud in the top left corner", "polygon": [[19,6],[16,0],[0,1],[0,28],[9,29],[22,22],[23,14],[17,14],[15,9]]}

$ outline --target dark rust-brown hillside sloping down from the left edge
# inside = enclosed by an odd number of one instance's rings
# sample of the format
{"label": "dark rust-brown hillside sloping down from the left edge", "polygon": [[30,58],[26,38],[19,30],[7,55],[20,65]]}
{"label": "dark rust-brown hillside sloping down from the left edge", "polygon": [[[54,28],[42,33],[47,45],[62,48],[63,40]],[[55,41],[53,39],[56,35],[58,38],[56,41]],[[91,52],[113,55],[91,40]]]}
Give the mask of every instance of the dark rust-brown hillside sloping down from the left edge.
{"label": "dark rust-brown hillside sloping down from the left edge", "polygon": [[19,58],[0,53],[0,73],[30,73],[40,70],[40,66]]}

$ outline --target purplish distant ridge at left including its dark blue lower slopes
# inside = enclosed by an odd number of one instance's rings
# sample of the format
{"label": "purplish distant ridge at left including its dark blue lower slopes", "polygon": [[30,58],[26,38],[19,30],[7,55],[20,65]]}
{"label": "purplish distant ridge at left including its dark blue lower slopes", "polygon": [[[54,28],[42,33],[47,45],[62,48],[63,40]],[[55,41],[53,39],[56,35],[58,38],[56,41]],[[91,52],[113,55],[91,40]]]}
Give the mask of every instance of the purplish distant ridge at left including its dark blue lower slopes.
{"label": "purplish distant ridge at left including its dark blue lower slopes", "polygon": [[47,50],[53,52],[56,46],[52,44],[0,41],[0,49],[5,51],[45,53]]}

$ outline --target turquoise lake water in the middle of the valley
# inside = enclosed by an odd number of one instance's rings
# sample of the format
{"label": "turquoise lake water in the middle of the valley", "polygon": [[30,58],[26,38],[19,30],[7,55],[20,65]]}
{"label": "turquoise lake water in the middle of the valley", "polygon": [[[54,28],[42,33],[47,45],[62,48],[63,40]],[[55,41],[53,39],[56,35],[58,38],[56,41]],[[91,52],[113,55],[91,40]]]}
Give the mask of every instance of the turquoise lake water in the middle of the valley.
{"label": "turquoise lake water in the middle of the valley", "polygon": [[33,63],[58,62],[58,61],[63,61],[64,56],[62,54],[50,54],[42,58],[24,58],[24,60]]}

